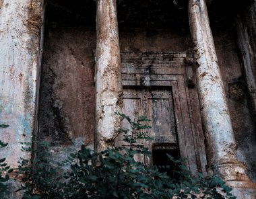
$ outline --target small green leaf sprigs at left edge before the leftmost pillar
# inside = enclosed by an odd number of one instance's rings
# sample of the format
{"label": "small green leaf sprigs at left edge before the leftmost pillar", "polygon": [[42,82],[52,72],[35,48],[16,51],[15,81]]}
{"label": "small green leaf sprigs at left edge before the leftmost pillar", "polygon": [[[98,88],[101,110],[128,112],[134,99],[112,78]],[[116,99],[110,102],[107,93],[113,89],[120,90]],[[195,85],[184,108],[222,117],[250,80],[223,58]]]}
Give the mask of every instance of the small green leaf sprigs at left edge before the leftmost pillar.
{"label": "small green leaf sprigs at left edge before the leftmost pillar", "polygon": [[[9,125],[0,124],[0,128],[7,128]],[[0,141],[0,149],[3,149],[7,146],[7,143],[3,143]],[[9,180],[9,173],[11,173],[13,169],[10,168],[7,163],[5,163],[5,158],[0,158],[0,198],[6,198],[9,193],[9,189],[7,186],[7,181]]]}

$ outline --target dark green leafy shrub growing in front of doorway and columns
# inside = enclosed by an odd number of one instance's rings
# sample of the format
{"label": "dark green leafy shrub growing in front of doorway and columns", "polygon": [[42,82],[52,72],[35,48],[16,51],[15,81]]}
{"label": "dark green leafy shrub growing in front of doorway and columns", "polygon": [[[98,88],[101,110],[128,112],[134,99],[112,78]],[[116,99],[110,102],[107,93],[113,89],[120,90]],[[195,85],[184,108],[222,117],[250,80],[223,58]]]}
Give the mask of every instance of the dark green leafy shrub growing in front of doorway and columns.
{"label": "dark green leafy shrub growing in front of doorway and columns", "polygon": [[[179,180],[159,171],[158,167],[135,161],[137,154],[149,156],[150,151],[137,142],[151,139],[146,132],[149,120],[140,117],[133,122],[129,116],[117,113],[131,126],[121,129],[123,141],[129,147],[108,148],[97,153],[82,145],[71,153],[67,162],[70,169],[60,173],[61,165],[49,166],[47,155],[38,152],[34,167],[28,160],[20,163],[24,198],[235,198],[231,188],[219,177],[205,178],[201,173],[193,176],[181,160],[174,161]],[[44,146],[45,147],[45,146]]]}

